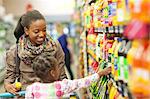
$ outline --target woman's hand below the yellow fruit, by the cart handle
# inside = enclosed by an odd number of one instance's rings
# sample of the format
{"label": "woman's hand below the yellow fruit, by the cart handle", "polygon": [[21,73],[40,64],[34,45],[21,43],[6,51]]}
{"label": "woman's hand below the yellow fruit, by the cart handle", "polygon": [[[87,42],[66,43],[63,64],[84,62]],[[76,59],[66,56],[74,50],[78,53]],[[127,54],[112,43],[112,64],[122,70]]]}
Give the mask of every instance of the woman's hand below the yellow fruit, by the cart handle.
{"label": "woman's hand below the yellow fruit, by the cart handle", "polygon": [[7,92],[10,92],[10,93],[12,93],[12,94],[14,94],[14,95],[17,95],[17,94],[18,94],[17,91],[19,91],[19,90],[15,87],[14,84],[10,84],[10,83],[5,84],[5,89],[6,89]]}

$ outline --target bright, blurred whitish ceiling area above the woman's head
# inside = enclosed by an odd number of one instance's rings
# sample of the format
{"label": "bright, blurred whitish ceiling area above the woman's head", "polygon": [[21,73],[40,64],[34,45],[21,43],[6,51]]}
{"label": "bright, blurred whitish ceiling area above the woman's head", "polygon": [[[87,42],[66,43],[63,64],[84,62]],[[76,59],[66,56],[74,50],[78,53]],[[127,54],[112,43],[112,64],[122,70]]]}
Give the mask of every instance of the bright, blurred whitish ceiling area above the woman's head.
{"label": "bright, blurred whitish ceiling area above the woman's head", "polygon": [[48,21],[70,21],[75,0],[3,0],[6,13],[12,13],[15,17],[25,13],[28,4],[39,10]]}

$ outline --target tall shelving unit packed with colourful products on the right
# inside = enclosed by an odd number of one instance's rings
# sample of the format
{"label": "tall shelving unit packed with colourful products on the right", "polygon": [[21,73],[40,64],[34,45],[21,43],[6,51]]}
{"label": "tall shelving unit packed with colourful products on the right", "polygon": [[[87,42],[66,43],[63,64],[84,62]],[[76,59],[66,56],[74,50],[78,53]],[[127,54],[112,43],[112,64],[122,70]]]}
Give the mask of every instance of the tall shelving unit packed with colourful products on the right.
{"label": "tall shelving unit packed with colourful products on the right", "polygon": [[[146,3],[150,4],[150,1],[141,0],[139,6]],[[86,56],[84,58],[86,75],[93,74],[99,68],[112,67],[110,75],[102,77],[88,89],[90,95],[92,94],[89,97],[94,99],[141,99],[139,96],[146,97],[143,99],[150,98],[150,91],[146,92],[147,89],[140,86],[150,87],[148,84],[150,83],[150,69],[148,69],[150,57],[144,54],[150,54],[148,51],[150,20],[147,16],[146,19],[141,19],[146,15],[145,13],[148,16],[150,13],[141,10],[140,14],[138,13],[139,17],[135,17],[136,12],[133,10],[135,5],[136,1],[130,0],[84,0],[82,24],[86,31],[84,32],[85,45],[83,45],[86,46],[84,49],[86,52],[83,54]],[[140,33],[142,29],[146,32],[143,33],[144,36]],[[146,55],[147,58],[140,61],[144,63],[139,63],[139,58],[136,60],[135,56],[138,56],[136,51],[143,58],[143,55]],[[136,77],[137,72],[145,73],[147,79],[140,75]]]}

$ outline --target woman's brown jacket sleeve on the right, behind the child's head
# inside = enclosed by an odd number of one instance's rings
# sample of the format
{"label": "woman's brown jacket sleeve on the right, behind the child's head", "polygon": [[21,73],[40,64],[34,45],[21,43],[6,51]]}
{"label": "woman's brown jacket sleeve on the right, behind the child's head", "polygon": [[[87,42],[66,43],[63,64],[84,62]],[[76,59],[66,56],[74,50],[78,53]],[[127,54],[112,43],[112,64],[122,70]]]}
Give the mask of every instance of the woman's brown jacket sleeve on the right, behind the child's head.
{"label": "woman's brown jacket sleeve on the right, behind the child's head", "polygon": [[66,72],[65,72],[65,56],[64,56],[64,52],[61,48],[61,45],[59,44],[58,41],[56,41],[57,44],[57,48],[56,48],[56,59],[58,60],[59,63],[59,69],[61,69],[61,74],[60,74],[60,79],[59,80],[63,80],[64,78],[67,78],[66,76]]}

